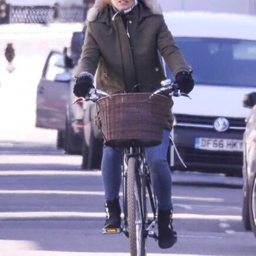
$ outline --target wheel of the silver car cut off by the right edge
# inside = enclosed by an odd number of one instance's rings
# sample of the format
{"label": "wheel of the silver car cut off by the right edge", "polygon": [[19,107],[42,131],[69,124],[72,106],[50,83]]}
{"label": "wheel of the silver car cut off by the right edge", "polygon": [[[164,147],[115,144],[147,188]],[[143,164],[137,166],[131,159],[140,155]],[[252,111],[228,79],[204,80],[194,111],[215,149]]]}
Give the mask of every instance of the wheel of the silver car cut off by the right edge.
{"label": "wheel of the silver car cut off by the right edge", "polygon": [[252,178],[252,184],[250,188],[249,214],[252,232],[254,232],[254,235],[256,237],[256,173]]}

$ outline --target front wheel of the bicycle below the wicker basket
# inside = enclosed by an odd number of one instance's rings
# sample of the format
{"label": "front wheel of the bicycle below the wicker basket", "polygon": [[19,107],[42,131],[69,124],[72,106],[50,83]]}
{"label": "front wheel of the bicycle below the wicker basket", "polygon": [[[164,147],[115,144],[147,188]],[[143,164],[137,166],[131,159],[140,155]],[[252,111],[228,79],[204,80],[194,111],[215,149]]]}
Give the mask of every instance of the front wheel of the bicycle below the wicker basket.
{"label": "front wheel of the bicycle below the wicker basket", "polygon": [[138,174],[137,159],[128,159],[127,171],[127,208],[128,208],[128,230],[131,256],[146,255],[147,235],[142,207],[142,188]]}

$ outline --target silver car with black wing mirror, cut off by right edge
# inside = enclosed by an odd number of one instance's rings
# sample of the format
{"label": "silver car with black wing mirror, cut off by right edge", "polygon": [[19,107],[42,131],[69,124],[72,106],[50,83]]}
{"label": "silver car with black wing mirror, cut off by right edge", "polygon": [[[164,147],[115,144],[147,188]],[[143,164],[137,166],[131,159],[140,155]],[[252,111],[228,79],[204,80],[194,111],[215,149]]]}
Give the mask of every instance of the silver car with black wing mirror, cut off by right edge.
{"label": "silver car with black wing mirror, cut off by right edge", "polygon": [[256,92],[245,95],[244,107],[251,108],[244,133],[244,200],[242,220],[256,237]]}

